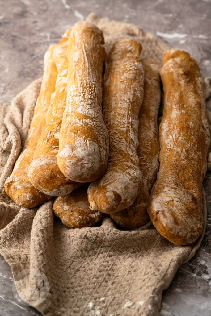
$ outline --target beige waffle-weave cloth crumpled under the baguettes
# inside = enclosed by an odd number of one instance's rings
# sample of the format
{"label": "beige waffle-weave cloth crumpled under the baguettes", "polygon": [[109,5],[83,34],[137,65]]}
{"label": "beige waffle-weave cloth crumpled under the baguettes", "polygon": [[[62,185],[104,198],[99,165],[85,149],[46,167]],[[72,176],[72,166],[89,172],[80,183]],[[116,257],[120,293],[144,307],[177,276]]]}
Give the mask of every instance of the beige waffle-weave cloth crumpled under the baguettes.
{"label": "beige waffle-weave cloth crumpled under the baguettes", "polygon": [[[142,57],[162,63],[168,46],[155,35],[95,14],[87,21],[102,29],[107,52],[116,40],[133,38],[143,46]],[[0,104],[0,253],[11,266],[19,295],[49,316],[158,315],[162,291],[194,256],[204,232],[194,245],[176,246],[151,222],[124,230],[107,215],[95,227],[71,229],[53,215],[53,200],[26,209],[6,195],[4,182],[26,139],[40,84],[41,79],[31,83],[11,105]],[[205,87],[208,97],[210,78]],[[205,230],[204,192],[203,215]]]}

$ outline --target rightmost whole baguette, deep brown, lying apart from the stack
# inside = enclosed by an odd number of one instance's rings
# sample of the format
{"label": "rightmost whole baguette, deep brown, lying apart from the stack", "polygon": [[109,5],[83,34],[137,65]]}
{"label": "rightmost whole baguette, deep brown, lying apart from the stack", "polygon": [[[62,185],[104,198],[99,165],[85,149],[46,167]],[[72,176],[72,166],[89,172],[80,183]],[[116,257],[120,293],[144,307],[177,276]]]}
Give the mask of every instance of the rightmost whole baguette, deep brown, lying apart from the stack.
{"label": "rightmost whole baguette, deep brown, lying apart from the stack", "polygon": [[202,181],[210,144],[204,85],[196,60],[187,52],[170,49],[163,64],[160,169],[148,213],[160,234],[188,245],[197,240],[203,225]]}

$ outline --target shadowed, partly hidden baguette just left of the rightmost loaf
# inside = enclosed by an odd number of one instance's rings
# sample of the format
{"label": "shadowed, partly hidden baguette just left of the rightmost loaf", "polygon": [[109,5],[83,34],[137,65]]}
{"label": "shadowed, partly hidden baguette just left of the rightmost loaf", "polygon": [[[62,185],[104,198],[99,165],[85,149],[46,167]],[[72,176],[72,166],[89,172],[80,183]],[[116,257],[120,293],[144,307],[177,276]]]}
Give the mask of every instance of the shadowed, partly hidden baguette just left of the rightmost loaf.
{"label": "shadowed, partly hidden baguette just left of the rightmost loaf", "polygon": [[149,59],[141,59],[144,67],[144,100],[139,112],[139,146],[137,154],[142,173],[139,194],[133,204],[125,210],[110,214],[122,227],[138,228],[149,222],[147,205],[150,191],[159,167],[158,109],[160,105],[160,68]]}

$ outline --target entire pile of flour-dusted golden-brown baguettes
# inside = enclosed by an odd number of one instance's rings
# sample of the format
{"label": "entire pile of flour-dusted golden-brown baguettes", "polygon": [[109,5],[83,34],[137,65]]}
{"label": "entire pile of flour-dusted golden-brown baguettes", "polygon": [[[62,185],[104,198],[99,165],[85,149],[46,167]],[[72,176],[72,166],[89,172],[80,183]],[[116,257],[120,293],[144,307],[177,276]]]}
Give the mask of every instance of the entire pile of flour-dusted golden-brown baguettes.
{"label": "entire pile of flour-dusted golden-brown baguettes", "polygon": [[199,66],[181,50],[166,51],[161,68],[140,58],[137,41],[116,42],[108,56],[103,44],[96,26],[78,22],[49,47],[5,191],[27,208],[56,197],[55,215],[72,228],[108,213],[124,228],[151,219],[171,242],[191,244],[202,233],[210,143]]}

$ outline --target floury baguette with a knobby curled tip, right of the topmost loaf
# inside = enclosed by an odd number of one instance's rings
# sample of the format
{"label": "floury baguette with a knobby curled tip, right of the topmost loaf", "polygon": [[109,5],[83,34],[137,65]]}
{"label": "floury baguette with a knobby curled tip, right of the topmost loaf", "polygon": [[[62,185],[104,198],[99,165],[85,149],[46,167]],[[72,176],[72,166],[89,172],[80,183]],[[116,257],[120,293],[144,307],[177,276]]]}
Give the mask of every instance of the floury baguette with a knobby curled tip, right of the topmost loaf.
{"label": "floury baguette with a knobby curled tip, right of the topmost loaf", "polygon": [[118,41],[106,61],[103,115],[109,131],[109,161],[105,174],[88,189],[90,209],[121,211],[133,204],[141,182],[138,115],[144,94],[142,46],[134,40]]}

